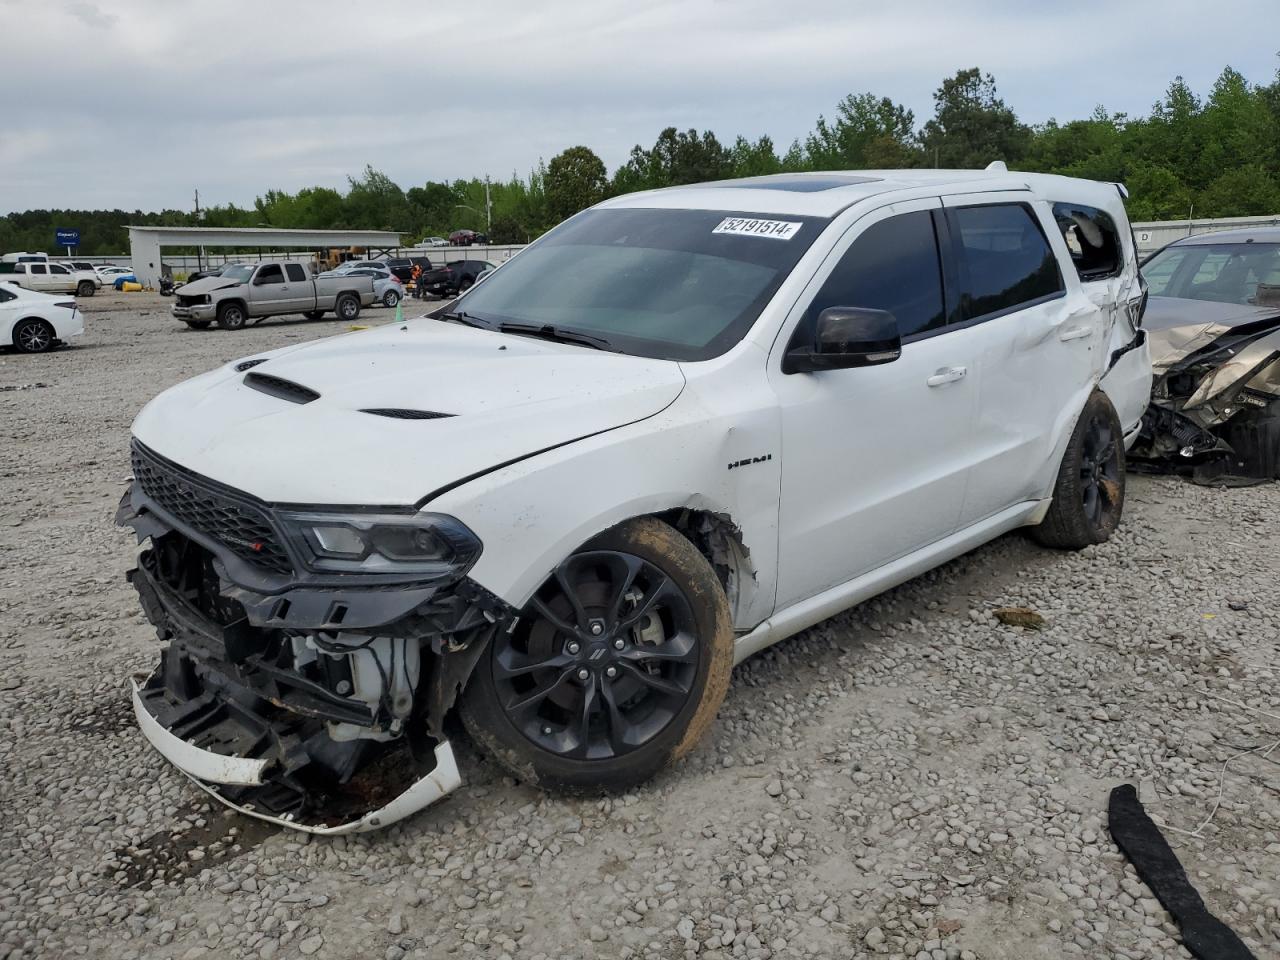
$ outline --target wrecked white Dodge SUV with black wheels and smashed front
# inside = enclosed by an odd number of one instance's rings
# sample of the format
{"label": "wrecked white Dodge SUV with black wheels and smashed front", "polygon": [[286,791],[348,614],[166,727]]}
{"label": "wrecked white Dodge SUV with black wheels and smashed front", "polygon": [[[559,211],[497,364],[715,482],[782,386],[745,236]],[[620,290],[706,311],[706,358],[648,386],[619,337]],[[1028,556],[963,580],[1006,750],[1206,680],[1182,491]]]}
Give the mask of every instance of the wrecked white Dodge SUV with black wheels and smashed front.
{"label": "wrecked white Dodge SUV with black wheels and smashed front", "polygon": [[[998,165],[996,165],[998,168]],[[133,426],[151,742],[369,829],[623,788],[737,660],[1019,526],[1105,540],[1151,389],[1115,184],[800,174],[620,197],[431,317],[229,364]]]}

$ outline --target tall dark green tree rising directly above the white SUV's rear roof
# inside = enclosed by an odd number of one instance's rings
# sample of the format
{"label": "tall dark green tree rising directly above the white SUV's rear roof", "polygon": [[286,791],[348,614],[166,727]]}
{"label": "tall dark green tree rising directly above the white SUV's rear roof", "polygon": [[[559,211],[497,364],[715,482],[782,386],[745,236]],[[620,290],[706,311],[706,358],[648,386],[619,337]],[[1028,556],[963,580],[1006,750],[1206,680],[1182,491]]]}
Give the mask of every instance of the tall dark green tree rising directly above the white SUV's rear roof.
{"label": "tall dark green tree rising directly above the white SUV's rear roof", "polygon": [[927,164],[969,170],[1005,160],[1012,166],[1030,146],[1030,128],[996,95],[996,78],[977,67],[942,81],[933,104],[933,119],[920,133]]}

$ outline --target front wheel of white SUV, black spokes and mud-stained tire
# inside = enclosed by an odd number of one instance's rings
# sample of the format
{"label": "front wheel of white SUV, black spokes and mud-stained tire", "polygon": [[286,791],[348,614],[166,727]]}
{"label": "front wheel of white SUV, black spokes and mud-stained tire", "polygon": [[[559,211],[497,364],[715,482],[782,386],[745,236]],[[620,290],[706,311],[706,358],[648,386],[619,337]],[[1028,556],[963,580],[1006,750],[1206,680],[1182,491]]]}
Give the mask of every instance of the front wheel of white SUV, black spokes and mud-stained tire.
{"label": "front wheel of white SUV, black spokes and mud-stained tire", "polygon": [[716,572],[673,527],[627,521],[539,588],[481,655],[460,713],[516,777],[627,790],[701,739],[728,690],[733,627]]}

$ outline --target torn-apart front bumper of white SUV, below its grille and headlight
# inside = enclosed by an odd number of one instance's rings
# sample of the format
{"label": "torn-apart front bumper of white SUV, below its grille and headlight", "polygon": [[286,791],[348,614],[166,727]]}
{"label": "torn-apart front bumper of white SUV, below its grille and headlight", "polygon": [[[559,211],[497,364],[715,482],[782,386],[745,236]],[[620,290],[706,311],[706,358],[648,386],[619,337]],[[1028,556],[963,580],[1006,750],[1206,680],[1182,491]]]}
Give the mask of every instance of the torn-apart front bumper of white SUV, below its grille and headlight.
{"label": "torn-apart front bumper of white SUV, below its grille and headlight", "polygon": [[[265,506],[265,504],[264,504]],[[233,553],[140,492],[128,580],[160,663],[133,682],[146,739],[201,790],[308,833],[376,829],[461,786],[443,718],[513,611],[470,580],[230,579]],[[243,580],[243,577],[242,577]]]}

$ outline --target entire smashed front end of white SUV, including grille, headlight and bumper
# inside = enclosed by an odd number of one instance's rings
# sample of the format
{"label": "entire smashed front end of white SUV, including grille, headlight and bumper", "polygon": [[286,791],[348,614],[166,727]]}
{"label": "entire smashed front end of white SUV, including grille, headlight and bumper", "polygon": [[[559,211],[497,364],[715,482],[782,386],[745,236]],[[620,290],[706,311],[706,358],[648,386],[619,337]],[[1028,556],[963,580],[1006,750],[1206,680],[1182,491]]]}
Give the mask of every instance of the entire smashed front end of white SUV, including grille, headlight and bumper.
{"label": "entire smashed front end of white SUV, including grille, headlight and bumper", "polygon": [[314,833],[374,829],[461,785],[442,724],[515,612],[475,536],[412,511],[291,511],[133,445],[116,522],[166,646],[138,724],[200,787]]}

